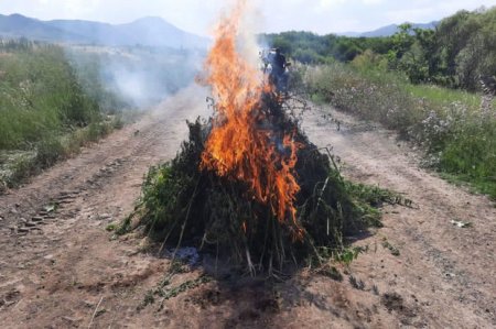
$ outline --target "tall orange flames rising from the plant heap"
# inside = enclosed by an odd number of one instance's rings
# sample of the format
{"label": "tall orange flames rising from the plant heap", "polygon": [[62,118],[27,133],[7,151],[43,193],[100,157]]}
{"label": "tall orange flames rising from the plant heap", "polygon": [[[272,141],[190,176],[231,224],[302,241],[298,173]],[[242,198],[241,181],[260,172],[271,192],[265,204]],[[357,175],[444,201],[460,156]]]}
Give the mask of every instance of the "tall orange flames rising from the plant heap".
{"label": "tall orange flames rising from the plant heap", "polygon": [[216,106],[201,168],[245,182],[251,196],[269,205],[280,222],[290,224],[293,238],[301,240],[303,230],[294,206],[300,190],[294,175],[300,146],[291,134],[278,144],[271,124],[263,124],[270,122],[262,96],[272,92],[271,87],[236,46],[245,10],[246,1],[238,1],[231,14],[220,20],[205,63],[205,81],[212,86]]}

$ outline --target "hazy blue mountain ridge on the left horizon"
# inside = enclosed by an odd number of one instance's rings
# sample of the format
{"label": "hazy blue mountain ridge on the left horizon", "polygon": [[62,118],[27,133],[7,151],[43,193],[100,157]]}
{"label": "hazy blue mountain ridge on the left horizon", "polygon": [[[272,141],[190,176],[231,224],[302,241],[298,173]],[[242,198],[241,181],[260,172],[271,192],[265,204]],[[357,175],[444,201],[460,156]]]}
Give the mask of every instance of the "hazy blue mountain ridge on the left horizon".
{"label": "hazy blue mountain ridge on the left horizon", "polygon": [[0,15],[0,37],[96,44],[145,45],[173,48],[206,47],[208,39],[187,33],[160,18],[143,18],[128,24],[79,20],[40,21],[20,14]]}

